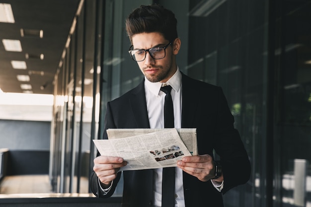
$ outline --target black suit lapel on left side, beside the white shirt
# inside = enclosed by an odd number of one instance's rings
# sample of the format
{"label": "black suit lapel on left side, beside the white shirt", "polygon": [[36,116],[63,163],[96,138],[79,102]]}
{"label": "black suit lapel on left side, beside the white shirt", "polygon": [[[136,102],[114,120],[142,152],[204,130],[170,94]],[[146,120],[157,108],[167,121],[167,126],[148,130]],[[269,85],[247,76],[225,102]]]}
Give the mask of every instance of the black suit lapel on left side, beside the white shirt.
{"label": "black suit lapel on left side, beside the white shirt", "polygon": [[131,109],[137,123],[137,128],[150,128],[144,80],[133,90],[130,97]]}

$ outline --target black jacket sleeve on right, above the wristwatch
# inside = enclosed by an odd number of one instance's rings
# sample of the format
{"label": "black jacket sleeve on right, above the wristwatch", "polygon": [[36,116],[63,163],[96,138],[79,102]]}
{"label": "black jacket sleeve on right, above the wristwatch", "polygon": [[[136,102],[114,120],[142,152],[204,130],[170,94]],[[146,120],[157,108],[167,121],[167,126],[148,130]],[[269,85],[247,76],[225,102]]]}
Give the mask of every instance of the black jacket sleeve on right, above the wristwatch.
{"label": "black jacket sleeve on right, above the wristwatch", "polygon": [[215,129],[215,151],[220,155],[223,167],[225,194],[231,188],[246,183],[250,177],[250,162],[240,138],[233,127],[234,117],[221,88],[217,98],[217,127]]}

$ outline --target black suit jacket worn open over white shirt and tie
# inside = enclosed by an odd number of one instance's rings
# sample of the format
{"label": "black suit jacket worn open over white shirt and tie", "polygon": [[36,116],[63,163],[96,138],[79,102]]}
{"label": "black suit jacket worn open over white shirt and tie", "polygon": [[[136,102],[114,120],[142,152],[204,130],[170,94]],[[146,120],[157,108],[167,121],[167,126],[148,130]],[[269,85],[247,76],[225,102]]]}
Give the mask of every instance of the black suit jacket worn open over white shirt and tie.
{"label": "black suit jacket worn open over white shirt and tie", "polygon": [[[233,116],[220,87],[192,79],[182,74],[182,128],[197,128],[198,154],[220,155],[226,193],[244,184],[250,176],[250,163],[238,132],[233,128]],[[121,97],[107,103],[106,129],[150,128],[144,81]],[[153,206],[153,170],[124,171],[122,207]],[[110,197],[120,179],[114,180],[107,195],[99,190],[97,176],[91,174],[91,189],[98,197]],[[186,207],[223,207],[222,193],[210,181],[202,182],[183,172]]]}

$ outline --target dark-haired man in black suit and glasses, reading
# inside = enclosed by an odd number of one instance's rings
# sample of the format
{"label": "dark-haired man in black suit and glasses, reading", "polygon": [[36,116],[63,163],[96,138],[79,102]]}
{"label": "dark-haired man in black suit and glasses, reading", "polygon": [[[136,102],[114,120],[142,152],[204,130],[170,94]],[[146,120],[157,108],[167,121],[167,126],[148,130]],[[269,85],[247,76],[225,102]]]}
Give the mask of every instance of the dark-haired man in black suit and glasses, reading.
{"label": "dark-haired man in black suit and glasses, reading", "polygon": [[[175,57],[181,41],[176,24],[174,14],[157,4],[142,5],[126,19],[132,43],[129,53],[145,78],[136,88],[107,103],[104,138],[109,128],[164,128],[166,94],[161,87],[170,85],[174,128],[197,129],[199,155],[177,162],[174,204],[168,206],[223,207],[222,194],[248,181],[250,163],[233,128],[234,119],[222,89],[194,80],[178,69]],[[220,160],[214,160],[213,150]],[[121,176],[118,170],[126,164],[122,157],[96,157],[90,178],[92,192],[97,197],[110,197]],[[166,205],[162,201],[162,179],[166,178],[162,168],[123,174],[122,206]]]}

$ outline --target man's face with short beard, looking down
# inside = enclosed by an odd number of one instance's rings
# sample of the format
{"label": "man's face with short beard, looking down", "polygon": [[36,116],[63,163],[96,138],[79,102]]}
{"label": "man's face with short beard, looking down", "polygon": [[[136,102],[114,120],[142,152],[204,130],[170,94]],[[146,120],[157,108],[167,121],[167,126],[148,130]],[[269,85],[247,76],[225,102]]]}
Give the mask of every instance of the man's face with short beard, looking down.
{"label": "man's face with short beard, looking down", "polygon": [[[177,42],[177,43],[176,43]],[[140,33],[132,37],[134,49],[150,49],[156,46],[165,46],[169,43],[158,32]],[[177,47],[176,47],[177,44]],[[177,69],[175,55],[179,51],[180,40],[177,38],[165,49],[163,59],[153,59],[149,52],[144,61],[137,62],[145,77],[151,82],[166,82]]]}

